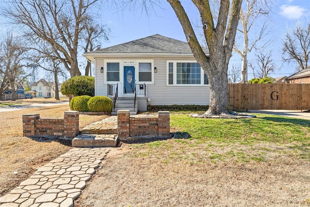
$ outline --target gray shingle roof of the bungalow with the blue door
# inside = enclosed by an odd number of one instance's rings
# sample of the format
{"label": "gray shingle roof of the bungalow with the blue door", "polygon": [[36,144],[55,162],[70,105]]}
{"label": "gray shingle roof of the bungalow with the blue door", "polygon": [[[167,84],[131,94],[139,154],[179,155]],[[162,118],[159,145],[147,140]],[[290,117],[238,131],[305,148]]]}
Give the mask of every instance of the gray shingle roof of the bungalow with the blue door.
{"label": "gray shingle roof of the bungalow with the blue door", "polygon": [[[209,53],[207,48],[204,48],[206,54]],[[131,42],[102,48],[99,50],[86,52],[87,53],[192,53],[186,42],[165,37],[159,34],[144,37]]]}

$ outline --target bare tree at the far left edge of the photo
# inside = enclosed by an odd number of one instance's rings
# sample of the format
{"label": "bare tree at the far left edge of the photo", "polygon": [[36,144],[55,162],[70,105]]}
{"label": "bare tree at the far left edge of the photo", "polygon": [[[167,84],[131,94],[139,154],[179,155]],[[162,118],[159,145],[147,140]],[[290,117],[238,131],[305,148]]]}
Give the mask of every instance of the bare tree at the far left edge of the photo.
{"label": "bare tree at the far left edge of the photo", "polygon": [[18,86],[31,76],[35,64],[31,61],[30,49],[25,47],[21,37],[8,32],[1,42],[0,50],[0,94],[9,87],[15,100]]}

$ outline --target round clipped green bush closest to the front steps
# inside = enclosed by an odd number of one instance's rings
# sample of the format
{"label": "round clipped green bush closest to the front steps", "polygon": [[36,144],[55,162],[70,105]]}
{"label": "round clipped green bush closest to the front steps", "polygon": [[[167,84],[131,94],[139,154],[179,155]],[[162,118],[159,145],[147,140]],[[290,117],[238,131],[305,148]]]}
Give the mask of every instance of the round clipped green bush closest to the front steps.
{"label": "round clipped green bush closest to the front steps", "polygon": [[93,96],[87,102],[89,111],[93,112],[111,112],[112,100],[106,96]]}

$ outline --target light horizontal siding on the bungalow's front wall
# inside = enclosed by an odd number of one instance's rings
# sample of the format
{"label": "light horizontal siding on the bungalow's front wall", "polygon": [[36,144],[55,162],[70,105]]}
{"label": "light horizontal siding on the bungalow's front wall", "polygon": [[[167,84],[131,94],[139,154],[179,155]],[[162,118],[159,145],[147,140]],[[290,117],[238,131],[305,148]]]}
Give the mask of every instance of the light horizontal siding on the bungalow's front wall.
{"label": "light horizontal siding on the bungalow's front wall", "polygon": [[[137,57],[138,58],[138,57]],[[147,58],[150,60],[150,58]],[[115,59],[113,59],[115,60]],[[120,60],[125,60],[124,58]],[[132,58],[130,60],[133,60]],[[137,60],[142,60],[139,58]],[[187,61],[188,59],[170,59],[171,61]],[[188,61],[192,61],[191,59]],[[107,96],[107,83],[104,83],[104,73],[100,72],[101,67],[105,67],[104,58],[96,58],[95,61],[95,96]],[[209,85],[167,85],[167,59],[154,59],[154,84],[147,85],[147,97],[151,99],[151,105],[172,105],[172,104],[210,104]],[[123,68],[120,68],[122,73]],[[122,80],[122,79],[121,79]],[[203,80],[202,80],[203,81]]]}

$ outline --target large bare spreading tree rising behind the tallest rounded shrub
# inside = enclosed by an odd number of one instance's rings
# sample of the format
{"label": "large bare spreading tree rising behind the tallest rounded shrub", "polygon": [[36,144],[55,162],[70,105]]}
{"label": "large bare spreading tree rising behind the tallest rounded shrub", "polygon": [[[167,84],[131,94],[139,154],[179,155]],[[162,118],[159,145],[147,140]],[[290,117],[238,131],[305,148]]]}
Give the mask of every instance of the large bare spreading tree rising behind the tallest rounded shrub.
{"label": "large bare spreading tree rising behind the tallest rounded shrub", "polygon": [[97,1],[12,0],[3,14],[12,23],[22,25],[33,43],[48,43],[70,76],[74,77],[81,75],[78,48],[85,44],[82,34],[87,33],[87,24],[93,19],[90,10]]}

